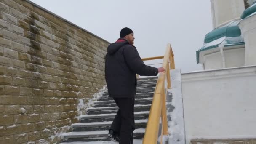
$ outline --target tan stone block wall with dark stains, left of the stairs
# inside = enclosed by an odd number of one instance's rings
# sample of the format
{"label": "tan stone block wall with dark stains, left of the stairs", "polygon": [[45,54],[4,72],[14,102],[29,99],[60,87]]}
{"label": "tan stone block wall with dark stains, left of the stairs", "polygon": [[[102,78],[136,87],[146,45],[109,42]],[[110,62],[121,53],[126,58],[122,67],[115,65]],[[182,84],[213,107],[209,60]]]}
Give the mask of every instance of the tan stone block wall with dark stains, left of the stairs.
{"label": "tan stone block wall with dark stains, left of the stairs", "polygon": [[0,0],[0,144],[58,142],[80,99],[104,87],[108,44],[30,1]]}

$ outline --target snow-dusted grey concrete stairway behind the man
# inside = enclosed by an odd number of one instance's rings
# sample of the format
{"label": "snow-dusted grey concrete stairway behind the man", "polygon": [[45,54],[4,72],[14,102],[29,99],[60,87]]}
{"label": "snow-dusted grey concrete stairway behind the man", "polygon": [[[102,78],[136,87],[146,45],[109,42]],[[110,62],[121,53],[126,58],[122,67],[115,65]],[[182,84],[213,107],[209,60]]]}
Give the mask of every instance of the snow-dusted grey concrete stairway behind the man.
{"label": "snow-dusted grey concrete stairway behind the man", "polygon": [[[134,106],[134,139],[142,139],[144,136],[157,78],[138,79]],[[87,109],[87,115],[81,117],[80,123],[72,124],[72,132],[63,134],[64,142],[110,141],[107,134],[117,110],[115,101],[109,97],[107,91],[104,92],[94,102],[93,107]]]}

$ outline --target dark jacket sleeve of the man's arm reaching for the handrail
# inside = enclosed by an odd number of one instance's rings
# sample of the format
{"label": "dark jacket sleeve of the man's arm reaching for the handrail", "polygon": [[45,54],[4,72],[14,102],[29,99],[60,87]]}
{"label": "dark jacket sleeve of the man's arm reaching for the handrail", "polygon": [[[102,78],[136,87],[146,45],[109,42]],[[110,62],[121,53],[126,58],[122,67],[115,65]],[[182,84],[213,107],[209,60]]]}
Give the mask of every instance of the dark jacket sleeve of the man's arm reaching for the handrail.
{"label": "dark jacket sleeve of the man's arm reaching for the handrail", "polygon": [[130,67],[136,74],[141,76],[156,76],[158,74],[157,68],[144,64],[137,49],[132,45],[125,45],[123,55],[128,67]]}

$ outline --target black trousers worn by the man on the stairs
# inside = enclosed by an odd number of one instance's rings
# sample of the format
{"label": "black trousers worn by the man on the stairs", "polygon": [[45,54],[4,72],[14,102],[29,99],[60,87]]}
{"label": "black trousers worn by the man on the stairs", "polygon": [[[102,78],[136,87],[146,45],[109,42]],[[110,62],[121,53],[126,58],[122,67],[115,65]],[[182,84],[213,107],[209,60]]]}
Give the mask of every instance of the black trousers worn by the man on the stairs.
{"label": "black trousers worn by the man on the stairs", "polygon": [[119,144],[133,144],[134,98],[113,98],[119,107],[111,129],[118,133]]}

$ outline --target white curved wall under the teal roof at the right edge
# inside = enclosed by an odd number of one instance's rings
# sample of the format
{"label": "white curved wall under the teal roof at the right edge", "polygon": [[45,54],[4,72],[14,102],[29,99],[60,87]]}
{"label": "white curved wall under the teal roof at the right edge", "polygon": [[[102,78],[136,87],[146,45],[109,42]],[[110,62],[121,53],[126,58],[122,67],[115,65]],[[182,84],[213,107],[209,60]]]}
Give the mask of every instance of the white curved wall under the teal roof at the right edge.
{"label": "white curved wall under the teal roof at the right edge", "polygon": [[245,41],[245,65],[256,64],[256,15],[240,21],[239,27]]}

